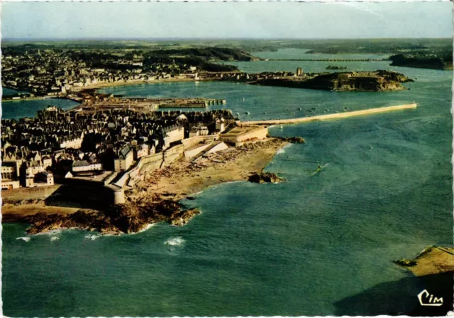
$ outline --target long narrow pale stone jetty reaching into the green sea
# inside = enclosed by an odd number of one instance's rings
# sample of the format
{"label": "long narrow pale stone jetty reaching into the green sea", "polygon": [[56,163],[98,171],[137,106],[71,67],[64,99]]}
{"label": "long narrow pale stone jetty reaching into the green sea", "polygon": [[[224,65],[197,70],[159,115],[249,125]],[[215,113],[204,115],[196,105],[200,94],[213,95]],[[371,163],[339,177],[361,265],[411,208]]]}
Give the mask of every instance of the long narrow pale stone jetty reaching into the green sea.
{"label": "long narrow pale stone jetty reaching into the green sea", "polygon": [[290,118],[290,119],[277,119],[277,120],[255,120],[255,121],[246,121],[238,122],[239,125],[282,125],[282,124],[294,124],[294,123],[309,123],[316,120],[329,120],[329,119],[338,119],[338,118],[348,118],[353,116],[361,115],[372,115],[377,113],[386,113],[393,110],[404,110],[404,109],[413,109],[416,108],[416,103],[397,105],[397,106],[387,106],[379,108],[369,108],[364,110],[354,110],[344,113],[333,113],[327,115],[317,115],[311,117],[301,117],[301,118]]}

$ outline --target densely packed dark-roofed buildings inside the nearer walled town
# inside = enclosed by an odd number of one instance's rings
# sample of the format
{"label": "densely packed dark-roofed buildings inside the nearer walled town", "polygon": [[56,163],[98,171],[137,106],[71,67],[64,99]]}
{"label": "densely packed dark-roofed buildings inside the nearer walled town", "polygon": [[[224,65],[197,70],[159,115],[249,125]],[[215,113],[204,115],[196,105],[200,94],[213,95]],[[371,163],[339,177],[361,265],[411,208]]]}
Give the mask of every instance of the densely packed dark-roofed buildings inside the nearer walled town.
{"label": "densely packed dark-roofed buildings inside the nearer walled town", "polygon": [[36,118],[1,120],[1,188],[49,186],[54,176],[121,173],[141,157],[222,132],[233,121],[230,110],[84,113],[49,106]]}

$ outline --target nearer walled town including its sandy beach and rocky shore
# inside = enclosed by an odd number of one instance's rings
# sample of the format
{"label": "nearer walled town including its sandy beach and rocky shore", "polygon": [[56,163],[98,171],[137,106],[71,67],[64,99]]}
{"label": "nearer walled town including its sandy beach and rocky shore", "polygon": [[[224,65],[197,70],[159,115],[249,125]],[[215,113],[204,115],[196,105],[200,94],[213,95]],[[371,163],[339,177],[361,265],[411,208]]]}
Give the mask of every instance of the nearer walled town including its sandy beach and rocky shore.
{"label": "nearer walled town including its sandy beach and rocky shore", "polygon": [[[65,227],[120,234],[162,221],[182,226],[199,213],[179,203],[187,191],[229,180],[282,181],[262,169],[279,147],[304,142],[269,137],[267,125],[240,125],[223,109],[48,106],[36,118],[1,125],[4,212],[8,218],[38,203],[39,213],[18,215],[31,224],[31,234]],[[33,196],[40,199],[30,202]],[[90,209],[52,214],[54,200]],[[140,217],[137,209],[143,209]]]}

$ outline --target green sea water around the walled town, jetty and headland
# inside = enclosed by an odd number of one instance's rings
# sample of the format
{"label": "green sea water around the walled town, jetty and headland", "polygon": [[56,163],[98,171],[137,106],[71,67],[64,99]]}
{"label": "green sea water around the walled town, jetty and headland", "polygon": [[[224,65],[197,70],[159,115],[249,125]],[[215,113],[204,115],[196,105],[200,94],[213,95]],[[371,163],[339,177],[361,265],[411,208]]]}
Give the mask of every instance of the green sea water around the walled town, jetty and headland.
{"label": "green sea water around the walled town, jetty and headland", "polygon": [[[247,65],[264,70],[262,63]],[[271,68],[295,67],[293,62],[267,63]],[[325,67],[324,62],[310,63],[314,72]],[[226,98],[227,107],[242,119],[412,101],[418,108],[271,127],[272,135],[306,140],[284,147],[267,166],[287,182],[207,188],[196,200],[183,201],[202,211],[185,227],[158,224],[120,237],[75,230],[28,236],[27,225],[6,223],[4,313],[170,317],[408,312],[409,297],[416,300],[423,283],[392,261],[416,256],[428,245],[453,243],[452,73],[370,63],[396,69],[415,82],[406,84],[409,91],[384,93],[228,82],[103,89],[125,96]],[[366,67],[362,62],[349,65]],[[312,175],[316,161],[328,165]]]}

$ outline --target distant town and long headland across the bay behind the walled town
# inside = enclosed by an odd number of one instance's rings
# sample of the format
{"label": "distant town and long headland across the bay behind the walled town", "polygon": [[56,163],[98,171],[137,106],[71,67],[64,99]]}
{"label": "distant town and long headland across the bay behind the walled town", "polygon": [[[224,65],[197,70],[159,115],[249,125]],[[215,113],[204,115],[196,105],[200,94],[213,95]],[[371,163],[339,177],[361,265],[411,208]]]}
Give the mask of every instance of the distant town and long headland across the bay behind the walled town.
{"label": "distant town and long headland across the bay behind the walled town", "polygon": [[[209,49],[213,49],[216,55],[211,56],[214,52]],[[211,55],[206,56],[206,51]],[[221,63],[257,59],[243,50],[228,48],[104,52],[8,47],[1,56],[4,67],[2,82],[5,87],[18,92],[4,101],[69,98],[83,102],[84,92],[90,89],[155,81],[240,81],[329,91],[397,91],[405,89],[401,83],[412,81],[403,74],[390,71],[306,73],[297,67],[296,72],[254,74]],[[199,102],[205,104],[205,101]]]}

